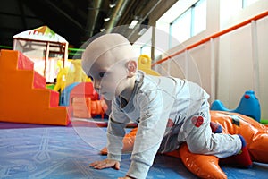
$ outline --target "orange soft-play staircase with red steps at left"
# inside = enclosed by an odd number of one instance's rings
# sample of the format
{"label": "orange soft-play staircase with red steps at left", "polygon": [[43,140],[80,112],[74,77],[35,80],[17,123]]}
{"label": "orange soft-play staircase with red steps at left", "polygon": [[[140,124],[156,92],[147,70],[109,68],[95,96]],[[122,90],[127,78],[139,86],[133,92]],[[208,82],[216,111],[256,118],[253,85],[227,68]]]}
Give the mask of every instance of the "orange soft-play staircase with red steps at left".
{"label": "orange soft-play staircase with red steps at left", "polygon": [[66,107],[59,107],[59,93],[46,89],[46,79],[19,51],[1,50],[0,121],[67,125]]}

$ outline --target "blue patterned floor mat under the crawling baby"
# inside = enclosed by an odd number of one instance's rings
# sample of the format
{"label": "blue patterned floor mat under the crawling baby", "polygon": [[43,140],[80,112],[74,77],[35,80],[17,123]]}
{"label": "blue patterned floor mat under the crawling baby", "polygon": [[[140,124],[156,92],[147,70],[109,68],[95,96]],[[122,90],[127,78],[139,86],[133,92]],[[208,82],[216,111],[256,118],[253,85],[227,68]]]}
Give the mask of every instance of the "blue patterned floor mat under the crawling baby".
{"label": "blue patterned floor mat under the crawling baby", "polygon": [[[86,123],[86,122],[85,122]],[[88,166],[104,159],[105,128],[0,123],[0,178],[92,178],[109,179],[125,175],[130,155],[124,155],[119,171],[96,170]],[[254,163],[251,169],[222,166],[228,178],[267,178],[268,165]],[[180,158],[157,156],[148,179],[197,178]]]}

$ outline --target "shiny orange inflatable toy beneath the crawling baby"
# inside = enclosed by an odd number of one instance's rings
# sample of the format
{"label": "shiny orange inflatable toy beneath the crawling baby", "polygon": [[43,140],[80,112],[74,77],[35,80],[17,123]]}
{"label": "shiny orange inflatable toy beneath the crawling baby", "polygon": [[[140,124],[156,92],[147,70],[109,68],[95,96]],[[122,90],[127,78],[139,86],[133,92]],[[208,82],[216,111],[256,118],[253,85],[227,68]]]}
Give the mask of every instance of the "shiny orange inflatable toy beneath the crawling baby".
{"label": "shiny orange inflatable toy beneath the crawling baby", "polygon": [[[222,125],[223,133],[241,134],[245,138],[252,161],[268,163],[268,128],[264,124],[259,124],[246,115],[224,111],[211,111],[211,118],[212,122]],[[132,151],[136,132],[137,128],[134,128],[124,137],[123,153]],[[102,149],[101,153],[107,154],[107,149]],[[227,178],[219,166],[219,158],[193,154],[186,143],[166,155],[181,158],[188,170],[200,178]]]}

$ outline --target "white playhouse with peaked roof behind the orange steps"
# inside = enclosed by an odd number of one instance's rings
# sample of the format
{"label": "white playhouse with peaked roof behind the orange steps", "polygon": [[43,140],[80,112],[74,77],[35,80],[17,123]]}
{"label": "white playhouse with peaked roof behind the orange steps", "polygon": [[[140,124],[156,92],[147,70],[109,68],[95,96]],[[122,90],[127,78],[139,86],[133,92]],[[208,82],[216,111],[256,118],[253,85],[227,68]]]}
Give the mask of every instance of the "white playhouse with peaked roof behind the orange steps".
{"label": "white playhouse with peaked roof behind the orange steps", "polygon": [[13,50],[18,50],[35,63],[34,70],[54,82],[58,72],[57,62],[68,59],[68,41],[47,26],[22,31],[13,36]]}

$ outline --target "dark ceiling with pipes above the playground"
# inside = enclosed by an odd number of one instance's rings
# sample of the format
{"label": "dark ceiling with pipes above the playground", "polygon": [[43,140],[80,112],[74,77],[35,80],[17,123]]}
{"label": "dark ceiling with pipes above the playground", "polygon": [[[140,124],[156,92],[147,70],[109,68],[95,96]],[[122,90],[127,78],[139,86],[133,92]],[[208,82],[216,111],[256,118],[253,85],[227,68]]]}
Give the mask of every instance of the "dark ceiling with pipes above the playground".
{"label": "dark ceiling with pipes above the playground", "polygon": [[[0,5],[0,46],[13,46],[13,35],[46,25],[71,47],[80,47],[101,29],[146,24],[161,0],[6,0]],[[163,3],[163,1],[162,1]],[[114,6],[113,6],[114,5]],[[110,18],[105,21],[105,18]],[[128,32],[130,33],[130,32]]]}

